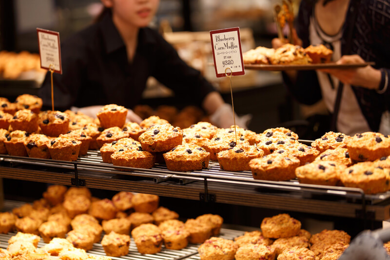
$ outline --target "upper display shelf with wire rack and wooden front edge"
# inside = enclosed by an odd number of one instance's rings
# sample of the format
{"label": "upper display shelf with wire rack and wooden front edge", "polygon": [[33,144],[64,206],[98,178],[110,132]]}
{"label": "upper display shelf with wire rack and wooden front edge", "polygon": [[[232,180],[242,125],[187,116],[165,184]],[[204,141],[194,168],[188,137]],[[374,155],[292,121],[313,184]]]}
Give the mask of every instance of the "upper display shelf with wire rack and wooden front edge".
{"label": "upper display shelf with wire rack and wooden front edge", "polygon": [[365,195],[357,188],[254,180],[249,171],[222,171],[213,161],[201,171],[174,172],[163,164],[138,169],[103,163],[99,151],[74,162],[2,155],[0,177],[363,220],[390,218],[390,192]]}

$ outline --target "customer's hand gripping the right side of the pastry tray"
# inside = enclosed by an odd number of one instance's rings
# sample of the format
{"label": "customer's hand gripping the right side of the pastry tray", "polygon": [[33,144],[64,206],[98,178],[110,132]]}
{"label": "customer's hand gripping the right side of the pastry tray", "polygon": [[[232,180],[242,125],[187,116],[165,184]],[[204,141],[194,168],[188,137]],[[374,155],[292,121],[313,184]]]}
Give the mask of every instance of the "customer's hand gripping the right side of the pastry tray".
{"label": "customer's hand gripping the right side of the pastry tray", "polygon": [[[344,55],[336,64],[359,64],[364,62],[359,55]],[[319,71],[333,75],[344,84],[368,89],[378,89],[381,81],[381,72],[370,65],[353,69],[321,69]]]}

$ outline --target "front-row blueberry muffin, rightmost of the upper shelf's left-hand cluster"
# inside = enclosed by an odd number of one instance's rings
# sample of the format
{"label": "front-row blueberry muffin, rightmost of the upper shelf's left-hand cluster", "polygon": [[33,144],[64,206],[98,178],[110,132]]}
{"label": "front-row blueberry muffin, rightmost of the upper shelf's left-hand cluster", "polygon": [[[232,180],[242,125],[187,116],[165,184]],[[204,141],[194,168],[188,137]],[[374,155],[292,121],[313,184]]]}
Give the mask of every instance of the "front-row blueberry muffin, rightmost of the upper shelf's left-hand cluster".
{"label": "front-row blueberry muffin, rightmost of the upper shelf's left-hand cluster", "polygon": [[53,160],[75,161],[78,158],[81,142],[67,136],[50,141],[49,152]]}

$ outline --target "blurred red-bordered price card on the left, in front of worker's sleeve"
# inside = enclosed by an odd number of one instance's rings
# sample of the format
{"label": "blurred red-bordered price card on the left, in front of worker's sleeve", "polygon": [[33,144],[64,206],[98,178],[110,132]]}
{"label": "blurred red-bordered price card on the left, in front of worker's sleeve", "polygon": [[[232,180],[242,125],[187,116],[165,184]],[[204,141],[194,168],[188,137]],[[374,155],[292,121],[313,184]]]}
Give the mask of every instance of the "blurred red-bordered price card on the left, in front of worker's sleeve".
{"label": "blurred red-bordered price card on the left, in front of worker's sleeve", "polygon": [[40,67],[62,74],[59,33],[37,28]]}

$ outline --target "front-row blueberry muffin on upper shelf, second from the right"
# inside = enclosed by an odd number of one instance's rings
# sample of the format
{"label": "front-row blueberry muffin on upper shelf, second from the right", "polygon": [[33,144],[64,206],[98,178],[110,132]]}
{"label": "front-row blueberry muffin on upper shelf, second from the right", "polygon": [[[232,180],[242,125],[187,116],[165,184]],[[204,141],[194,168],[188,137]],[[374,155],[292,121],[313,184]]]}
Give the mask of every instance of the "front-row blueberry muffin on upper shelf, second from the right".
{"label": "front-row blueberry muffin on upper shelf, second from the right", "polygon": [[313,161],[295,169],[300,183],[336,186],[340,181],[340,172],[346,166],[331,160]]}

